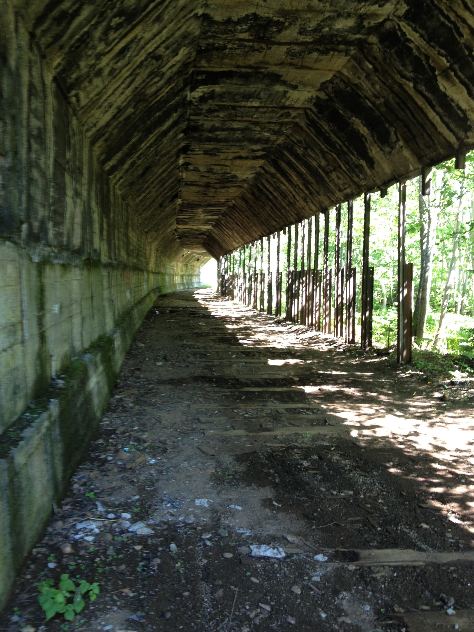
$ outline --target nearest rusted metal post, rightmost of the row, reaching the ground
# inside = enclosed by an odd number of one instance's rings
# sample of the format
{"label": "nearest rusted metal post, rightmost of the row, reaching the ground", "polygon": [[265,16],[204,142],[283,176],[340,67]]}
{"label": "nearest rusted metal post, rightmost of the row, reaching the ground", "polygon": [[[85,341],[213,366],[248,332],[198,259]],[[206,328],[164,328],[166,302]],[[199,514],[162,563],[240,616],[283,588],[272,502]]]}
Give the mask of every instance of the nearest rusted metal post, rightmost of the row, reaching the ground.
{"label": "nearest rusted metal post, rightmost of the row, reaching the ground", "polygon": [[398,195],[398,322],[397,362],[411,362],[411,284],[413,265],[405,260],[406,183],[399,184]]}

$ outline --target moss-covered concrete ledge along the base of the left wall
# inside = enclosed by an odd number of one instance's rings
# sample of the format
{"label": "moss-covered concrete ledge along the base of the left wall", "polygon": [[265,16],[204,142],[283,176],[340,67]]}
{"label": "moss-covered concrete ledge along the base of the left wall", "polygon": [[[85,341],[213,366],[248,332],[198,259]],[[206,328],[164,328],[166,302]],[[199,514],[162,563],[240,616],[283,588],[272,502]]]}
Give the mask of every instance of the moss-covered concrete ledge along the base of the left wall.
{"label": "moss-covered concrete ledge along the base of the left wall", "polygon": [[3,442],[0,458],[0,609],[23,560],[42,538],[53,503],[63,497],[85,453],[145,314],[157,296],[184,286],[173,283],[152,290],[73,362],[64,387],[51,387],[35,402],[35,412],[22,415],[5,433],[8,444]]}

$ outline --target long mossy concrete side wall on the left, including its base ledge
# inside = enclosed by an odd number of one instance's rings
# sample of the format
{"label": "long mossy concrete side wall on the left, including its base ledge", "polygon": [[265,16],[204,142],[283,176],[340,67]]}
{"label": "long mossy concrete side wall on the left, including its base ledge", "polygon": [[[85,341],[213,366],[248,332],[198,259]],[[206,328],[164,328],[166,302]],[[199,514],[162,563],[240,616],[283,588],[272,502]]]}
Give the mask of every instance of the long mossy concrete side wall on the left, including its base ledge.
{"label": "long mossy concrete side wall on the left, including its base ledge", "polygon": [[[196,257],[166,260],[154,239],[104,172],[54,69],[6,0],[0,11],[0,607],[87,446],[143,316],[159,293],[199,284]],[[66,383],[61,390],[54,387],[59,377]]]}

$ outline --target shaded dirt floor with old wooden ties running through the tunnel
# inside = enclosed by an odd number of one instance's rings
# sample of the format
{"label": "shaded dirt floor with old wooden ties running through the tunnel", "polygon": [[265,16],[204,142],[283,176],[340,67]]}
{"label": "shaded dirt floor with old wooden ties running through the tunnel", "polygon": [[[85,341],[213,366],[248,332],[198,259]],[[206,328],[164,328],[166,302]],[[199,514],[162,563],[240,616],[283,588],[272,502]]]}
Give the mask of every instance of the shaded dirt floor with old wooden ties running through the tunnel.
{"label": "shaded dirt floor with old wooden ties running through the tunnel", "polygon": [[[0,629],[473,630],[472,408],[437,387],[207,291],[161,297]],[[45,624],[35,583],[63,573],[99,599]]]}

